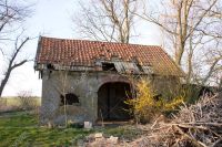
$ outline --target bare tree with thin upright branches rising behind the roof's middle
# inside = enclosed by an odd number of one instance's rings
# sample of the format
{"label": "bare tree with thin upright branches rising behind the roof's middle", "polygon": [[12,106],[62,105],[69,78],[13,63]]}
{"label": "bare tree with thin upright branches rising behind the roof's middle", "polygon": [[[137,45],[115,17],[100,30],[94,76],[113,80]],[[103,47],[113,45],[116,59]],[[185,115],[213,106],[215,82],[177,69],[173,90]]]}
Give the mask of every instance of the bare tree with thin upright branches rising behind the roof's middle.
{"label": "bare tree with thin upright branches rising behind the roof's middle", "polygon": [[81,13],[74,15],[73,23],[84,38],[129,43],[133,36],[139,1],[90,0],[87,6],[81,1]]}

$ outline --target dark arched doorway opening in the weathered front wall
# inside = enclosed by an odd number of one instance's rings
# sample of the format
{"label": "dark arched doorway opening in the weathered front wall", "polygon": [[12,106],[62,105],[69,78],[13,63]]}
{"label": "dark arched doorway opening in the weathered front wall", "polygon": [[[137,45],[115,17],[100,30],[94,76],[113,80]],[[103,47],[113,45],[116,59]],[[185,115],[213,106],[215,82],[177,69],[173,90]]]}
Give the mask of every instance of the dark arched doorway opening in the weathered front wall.
{"label": "dark arched doorway opening in the weathered front wall", "polygon": [[130,84],[105,83],[98,91],[98,120],[129,120],[130,106],[125,99],[132,97]]}

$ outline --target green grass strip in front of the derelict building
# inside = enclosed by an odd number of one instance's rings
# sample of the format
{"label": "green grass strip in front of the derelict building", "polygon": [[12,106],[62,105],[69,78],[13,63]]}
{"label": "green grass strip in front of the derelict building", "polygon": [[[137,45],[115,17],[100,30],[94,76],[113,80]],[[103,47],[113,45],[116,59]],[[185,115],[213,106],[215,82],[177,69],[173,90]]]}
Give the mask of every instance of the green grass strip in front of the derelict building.
{"label": "green grass strip in front of the derelict building", "polygon": [[107,136],[132,137],[135,132],[128,127],[47,128],[38,126],[38,117],[28,112],[0,114],[0,147],[9,146],[77,146],[89,134],[100,132]]}

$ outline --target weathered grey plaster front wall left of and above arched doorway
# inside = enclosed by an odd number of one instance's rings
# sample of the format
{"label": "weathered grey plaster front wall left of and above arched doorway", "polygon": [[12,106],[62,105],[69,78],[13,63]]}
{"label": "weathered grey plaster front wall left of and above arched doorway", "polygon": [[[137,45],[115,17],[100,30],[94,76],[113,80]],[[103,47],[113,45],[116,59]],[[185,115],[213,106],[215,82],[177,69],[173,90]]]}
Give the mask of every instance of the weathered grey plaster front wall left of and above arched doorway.
{"label": "weathered grey plaster front wall left of and above arched doorway", "polygon": [[80,101],[78,106],[68,106],[68,120],[75,123],[95,122],[98,118],[98,91],[101,85],[109,82],[129,81],[117,73],[67,73],[60,71],[50,73],[44,71],[42,77],[41,123],[64,124],[64,111],[63,106],[60,106],[60,95],[62,93],[73,93]]}

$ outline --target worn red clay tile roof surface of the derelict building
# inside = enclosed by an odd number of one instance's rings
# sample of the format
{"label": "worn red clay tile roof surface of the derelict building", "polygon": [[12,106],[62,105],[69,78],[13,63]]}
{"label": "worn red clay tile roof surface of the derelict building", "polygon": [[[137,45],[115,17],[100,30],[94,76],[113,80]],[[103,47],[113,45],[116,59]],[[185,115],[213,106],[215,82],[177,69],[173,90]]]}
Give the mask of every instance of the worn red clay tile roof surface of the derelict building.
{"label": "worn red clay tile roof surface of the derelict building", "polygon": [[155,72],[183,75],[183,72],[160,46],[46,36],[40,38],[36,64],[94,66],[97,59],[103,57],[105,61],[110,61],[113,56],[125,62],[137,57],[140,65],[152,66]]}

